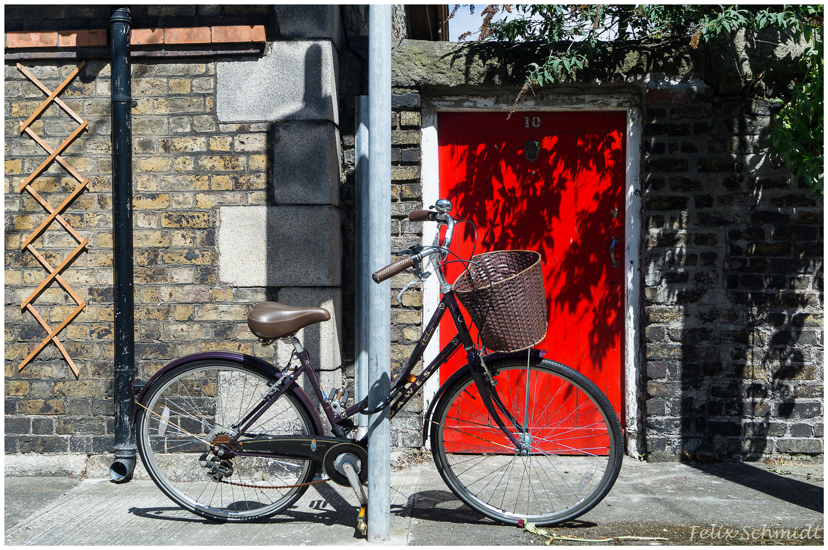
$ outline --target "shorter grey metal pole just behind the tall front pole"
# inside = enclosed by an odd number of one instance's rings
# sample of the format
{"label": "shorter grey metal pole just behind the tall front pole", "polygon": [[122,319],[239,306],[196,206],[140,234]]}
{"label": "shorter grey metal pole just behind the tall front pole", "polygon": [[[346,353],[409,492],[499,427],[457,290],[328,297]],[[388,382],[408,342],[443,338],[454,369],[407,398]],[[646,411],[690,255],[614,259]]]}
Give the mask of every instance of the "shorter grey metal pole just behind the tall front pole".
{"label": "shorter grey metal pole just behind the tall front pole", "polygon": [[[356,97],[356,120],[354,126],[354,171],[356,184],[355,226],[356,242],[354,259],[356,270],[356,291],[354,292],[354,390],[356,402],[368,397],[368,292],[373,281],[368,276],[368,96]],[[357,416],[357,439],[368,433],[368,417]]]}

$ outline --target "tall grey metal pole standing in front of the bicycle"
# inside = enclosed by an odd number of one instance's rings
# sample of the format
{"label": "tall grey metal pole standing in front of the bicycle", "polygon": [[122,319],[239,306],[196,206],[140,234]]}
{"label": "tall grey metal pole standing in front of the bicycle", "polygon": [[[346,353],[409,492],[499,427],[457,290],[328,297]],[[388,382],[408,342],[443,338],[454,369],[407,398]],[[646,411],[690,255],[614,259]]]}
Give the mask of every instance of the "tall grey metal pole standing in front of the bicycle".
{"label": "tall grey metal pole standing in front of the bicycle", "polygon": [[[368,12],[368,272],[391,263],[391,5]],[[391,391],[391,283],[368,294],[368,405]],[[388,407],[368,420],[368,542],[391,539],[391,426]]]}

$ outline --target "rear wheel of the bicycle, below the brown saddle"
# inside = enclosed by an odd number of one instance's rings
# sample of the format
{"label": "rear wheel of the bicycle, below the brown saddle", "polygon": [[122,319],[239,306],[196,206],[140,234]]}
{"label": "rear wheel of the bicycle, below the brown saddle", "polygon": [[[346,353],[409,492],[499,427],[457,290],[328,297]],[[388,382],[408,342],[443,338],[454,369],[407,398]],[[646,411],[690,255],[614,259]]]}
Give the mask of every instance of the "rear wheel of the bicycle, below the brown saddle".
{"label": "rear wheel of the bicycle, below the brown saddle", "polygon": [[[166,373],[142,398],[137,416],[137,446],[147,473],[176,504],[203,518],[222,522],[263,519],[287,509],[307,490],[317,461],[233,457],[231,484],[214,481],[200,465],[209,442],[237,433],[231,428],[262,400],[275,378],[254,366],[230,360],[185,363]],[[165,411],[166,409],[166,411]],[[317,435],[310,413],[291,393],[282,395],[245,436]]]}

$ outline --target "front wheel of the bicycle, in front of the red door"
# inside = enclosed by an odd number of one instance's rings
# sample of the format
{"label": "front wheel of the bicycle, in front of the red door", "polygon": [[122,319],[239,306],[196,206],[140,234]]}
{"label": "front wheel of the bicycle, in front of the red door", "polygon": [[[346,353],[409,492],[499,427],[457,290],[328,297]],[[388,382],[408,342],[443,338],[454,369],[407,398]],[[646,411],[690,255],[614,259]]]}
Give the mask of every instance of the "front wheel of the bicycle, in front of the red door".
{"label": "front wheel of the bicycle, in front of the red door", "polygon": [[[527,360],[487,366],[503,405],[523,425]],[[527,456],[490,418],[470,372],[436,404],[431,450],[445,484],[480,514],[510,525],[560,524],[588,512],[614,485],[623,460],[621,425],[609,399],[578,371],[534,358],[530,373],[528,441],[501,415],[528,443]]]}

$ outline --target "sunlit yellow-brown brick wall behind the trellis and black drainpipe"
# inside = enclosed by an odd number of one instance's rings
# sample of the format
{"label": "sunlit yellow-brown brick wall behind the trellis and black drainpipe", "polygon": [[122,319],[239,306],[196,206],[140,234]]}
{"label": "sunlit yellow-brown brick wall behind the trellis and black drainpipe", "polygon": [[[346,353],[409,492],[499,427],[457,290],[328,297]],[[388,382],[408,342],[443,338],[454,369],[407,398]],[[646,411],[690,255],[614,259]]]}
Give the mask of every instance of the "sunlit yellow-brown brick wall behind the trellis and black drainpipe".
{"label": "sunlit yellow-brown brick wall behind the trellis and black drainpipe", "polygon": [[[54,88],[75,64],[25,63]],[[224,124],[215,116],[215,63],[178,59],[132,65],[136,363],[147,378],[172,359],[214,349],[271,356],[248,331],[251,304],[267,289],[218,284],[214,246],[217,208],[267,203],[267,124]],[[42,208],[17,193],[21,177],[46,157],[17,121],[44,94],[15,68],[6,66],[6,452],[104,452],[112,444],[113,270],[109,67],[89,61],[61,95],[89,119],[64,157],[89,177],[89,190],[65,211],[65,218],[89,249],[63,276],[82,299],[84,313],[59,335],[79,367],[78,380],[54,346],[29,365],[17,364],[46,332],[20,304],[46,275],[21,238],[43,218]],[[52,147],[71,124],[56,106],[35,131]],[[34,189],[52,204],[74,189],[53,163]],[[54,223],[34,243],[52,265],[75,243]],[[36,308],[60,322],[70,305],[56,285],[36,299]],[[73,303],[74,304],[74,303]],[[53,324],[53,326],[54,326]]]}

